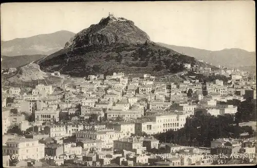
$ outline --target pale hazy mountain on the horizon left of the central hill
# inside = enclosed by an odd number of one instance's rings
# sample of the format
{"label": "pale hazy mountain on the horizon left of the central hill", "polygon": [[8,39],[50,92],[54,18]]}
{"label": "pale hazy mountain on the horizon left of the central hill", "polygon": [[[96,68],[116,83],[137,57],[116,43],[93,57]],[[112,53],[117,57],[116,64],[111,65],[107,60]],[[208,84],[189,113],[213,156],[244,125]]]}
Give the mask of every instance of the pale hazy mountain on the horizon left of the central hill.
{"label": "pale hazy mountain on the horizon left of the central hill", "polygon": [[1,41],[1,55],[49,55],[64,48],[65,43],[75,33],[61,30],[50,34],[40,34],[27,38]]}

